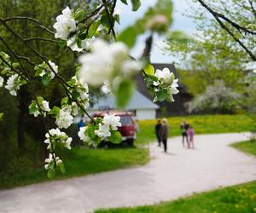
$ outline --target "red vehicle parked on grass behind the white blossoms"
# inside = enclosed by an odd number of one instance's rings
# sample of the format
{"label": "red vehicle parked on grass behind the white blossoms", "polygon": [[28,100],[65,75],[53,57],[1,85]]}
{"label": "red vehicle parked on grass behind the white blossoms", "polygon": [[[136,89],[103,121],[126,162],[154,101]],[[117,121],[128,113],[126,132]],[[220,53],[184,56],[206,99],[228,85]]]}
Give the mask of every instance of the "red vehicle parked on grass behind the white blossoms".
{"label": "red vehicle parked on grass behind the white blossoms", "polygon": [[135,124],[133,121],[133,116],[131,112],[124,112],[124,111],[99,111],[93,114],[93,118],[101,117],[103,118],[106,114],[114,114],[120,117],[120,123],[122,126],[118,128],[120,134],[122,135],[123,142],[126,142],[128,145],[133,145],[133,141],[136,139],[136,132],[135,132]]}

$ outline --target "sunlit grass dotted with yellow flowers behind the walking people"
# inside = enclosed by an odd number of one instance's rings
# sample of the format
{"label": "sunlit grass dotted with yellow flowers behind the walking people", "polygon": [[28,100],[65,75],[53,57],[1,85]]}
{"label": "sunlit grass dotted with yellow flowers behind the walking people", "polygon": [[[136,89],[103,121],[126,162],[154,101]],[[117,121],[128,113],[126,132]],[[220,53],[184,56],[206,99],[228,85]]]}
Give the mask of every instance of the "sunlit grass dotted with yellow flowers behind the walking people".
{"label": "sunlit grass dotted with yellow flowers behind the walking people", "polygon": [[[253,119],[247,115],[198,115],[168,118],[169,135],[180,135],[179,125],[183,118],[195,129],[195,134],[216,134],[227,132],[244,132],[252,128]],[[154,124],[156,120],[140,121],[141,132],[137,134],[137,144],[155,140]]]}

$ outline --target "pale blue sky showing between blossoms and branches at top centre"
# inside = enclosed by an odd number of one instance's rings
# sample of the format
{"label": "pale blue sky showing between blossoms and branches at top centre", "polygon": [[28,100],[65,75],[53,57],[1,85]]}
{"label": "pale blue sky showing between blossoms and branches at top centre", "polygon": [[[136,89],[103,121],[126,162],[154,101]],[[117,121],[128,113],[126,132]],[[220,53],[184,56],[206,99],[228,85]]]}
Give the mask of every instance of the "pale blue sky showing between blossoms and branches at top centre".
{"label": "pale blue sky showing between blossoms and branches at top centre", "polygon": [[[145,11],[150,6],[154,6],[157,0],[142,0],[142,6],[137,12],[131,11],[131,5],[127,6],[120,1],[117,4],[117,9],[120,10],[120,25],[117,26],[118,31],[121,31],[127,26],[131,26],[138,18],[142,17]],[[173,23],[171,30],[180,30],[189,35],[196,32],[195,23],[189,17],[183,15],[183,13],[191,14],[193,13],[190,9],[187,0],[172,0],[174,10],[173,10]],[[147,35],[143,35],[137,38],[136,46],[131,49],[131,55],[135,58],[142,55],[144,49],[144,41]],[[162,48],[166,45],[164,43],[163,37],[154,36],[154,44],[151,52],[151,62],[152,63],[172,63],[176,61],[172,56],[166,55]],[[177,61],[176,61],[177,62]],[[178,61],[179,62],[179,61]]]}

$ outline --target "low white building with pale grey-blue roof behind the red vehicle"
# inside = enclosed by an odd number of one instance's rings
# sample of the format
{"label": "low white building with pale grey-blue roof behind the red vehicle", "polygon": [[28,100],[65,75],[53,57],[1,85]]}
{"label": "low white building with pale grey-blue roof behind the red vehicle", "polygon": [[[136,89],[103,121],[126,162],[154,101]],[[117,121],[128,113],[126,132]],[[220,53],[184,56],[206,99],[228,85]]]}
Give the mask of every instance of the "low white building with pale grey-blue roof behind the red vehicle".
{"label": "low white building with pale grey-blue roof behind the red vehicle", "polygon": [[[154,119],[156,117],[156,110],[158,105],[150,101],[146,96],[138,92],[137,90],[131,96],[131,101],[125,107],[126,111],[134,113],[134,116],[139,120]],[[115,104],[115,98],[111,95],[105,95],[98,99],[93,107],[88,109],[90,114],[93,114],[99,110],[111,110],[117,109]]]}

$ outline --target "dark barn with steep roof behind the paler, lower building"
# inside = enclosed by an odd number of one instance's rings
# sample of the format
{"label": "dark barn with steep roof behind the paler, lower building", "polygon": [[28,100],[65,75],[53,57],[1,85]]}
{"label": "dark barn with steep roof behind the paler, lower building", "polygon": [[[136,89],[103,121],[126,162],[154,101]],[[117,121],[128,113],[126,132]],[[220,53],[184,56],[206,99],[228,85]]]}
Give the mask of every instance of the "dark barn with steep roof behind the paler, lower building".
{"label": "dark barn with steep roof behind the paler, lower building", "polygon": [[[152,64],[154,66],[154,69],[160,69],[167,67],[171,72],[175,74],[175,78],[178,78],[177,70],[174,66],[174,64]],[[186,87],[178,82],[178,90],[179,93],[177,95],[174,95],[174,102],[157,102],[157,105],[159,108],[157,109],[157,117],[164,117],[164,116],[170,116],[170,115],[184,115],[186,114],[186,109],[184,107],[184,103],[187,101],[191,101],[192,95],[189,94]],[[140,73],[137,75],[137,90],[148,97],[149,100],[153,101],[154,96],[149,94],[149,91],[146,87],[146,84],[144,83],[143,73]]]}

